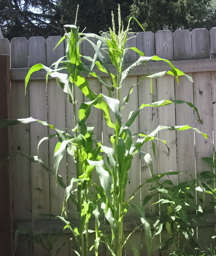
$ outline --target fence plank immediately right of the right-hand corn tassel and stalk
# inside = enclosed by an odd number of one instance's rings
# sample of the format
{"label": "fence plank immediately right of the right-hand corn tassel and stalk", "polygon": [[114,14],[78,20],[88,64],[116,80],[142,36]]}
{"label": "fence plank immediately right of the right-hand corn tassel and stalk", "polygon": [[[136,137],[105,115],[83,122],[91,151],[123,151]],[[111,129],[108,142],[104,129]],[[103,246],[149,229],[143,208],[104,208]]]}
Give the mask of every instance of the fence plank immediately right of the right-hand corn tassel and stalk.
{"label": "fence plank immediately right of the right-hand corn tassel and stalk", "polygon": [[[126,48],[130,47],[136,47],[136,36],[135,34],[129,34],[129,39],[126,43]],[[134,63],[137,60],[136,53],[129,49],[125,55],[125,63]],[[125,79],[125,82],[122,85],[121,89],[121,102],[124,97],[126,97],[126,94],[129,92],[131,86],[138,83],[138,77],[128,77]],[[127,105],[124,107],[124,110],[122,111],[122,124],[125,124],[127,121],[127,118],[129,117],[130,111],[138,110],[138,87],[134,87],[134,91],[130,94],[129,102],[127,102]],[[122,105],[122,103],[121,103]],[[139,132],[139,118],[137,117],[133,124],[130,126],[130,130],[132,134],[135,134]],[[127,186],[126,186],[126,195],[125,198],[129,198],[134,192],[134,190],[140,185],[140,163],[139,163],[139,155],[136,154],[134,159],[132,159],[131,168],[127,171]],[[132,203],[138,203],[140,205],[140,191],[136,194],[136,196],[131,200]],[[138,216],[138,213],[133,209],[129,208],[129,211],[127,212],[126,217],[136,217]],[[129,235],[130,232],[125,232],[124,236],[126,238],[127,235]],[[127,255],[134,255],[132,253],[132,246],[135,245],[138,249],[139,253],[142,252],[142,241],[141,241],[141,231],[136,231],[134,234],[130,236],[129,241],[125,245],[125,250]]]}

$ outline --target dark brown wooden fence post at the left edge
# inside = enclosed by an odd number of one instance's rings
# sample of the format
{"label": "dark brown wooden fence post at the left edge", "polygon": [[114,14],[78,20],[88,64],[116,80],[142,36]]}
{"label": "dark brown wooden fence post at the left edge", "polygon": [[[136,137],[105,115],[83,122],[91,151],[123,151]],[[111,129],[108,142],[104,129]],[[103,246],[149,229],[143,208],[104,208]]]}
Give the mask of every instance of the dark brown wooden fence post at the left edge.
{"label": "dark brown wooden fence post at the left edge", "polygon": [[[9,117],[11,94],[9,55],[0,55],[0,120]],[[0,129],[0,162],[9,155],[9,132]],[[12,255],[11,195],[9,164],[0,167],[0,250],[1,255]]]}

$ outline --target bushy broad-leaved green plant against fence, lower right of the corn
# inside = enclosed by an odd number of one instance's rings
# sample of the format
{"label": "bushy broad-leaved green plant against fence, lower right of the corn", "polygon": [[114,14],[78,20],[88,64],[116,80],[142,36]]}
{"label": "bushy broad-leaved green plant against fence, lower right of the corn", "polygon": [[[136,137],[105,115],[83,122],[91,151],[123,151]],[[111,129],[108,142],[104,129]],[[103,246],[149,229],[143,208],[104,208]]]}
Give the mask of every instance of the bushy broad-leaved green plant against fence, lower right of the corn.
{"label": "bushy broad-leaved green plant against fence, lower right of the corn", "polygon": [[[173,174],[175,175],[176,173],[171,173],[171,175]],[[160,203],[160,216],[154,224],[154,235],[159,235],[163,227],[171,235],[171,238],[168,240],[161,240],[161,250],[166,250],[174,245],[176,253],[178,252],[178,255],[183,255],[186,243],[189,243],[193,249],[199,249],[194,236],[194,229],[190,227],[202,222],[200,217],[202,216],[203,208],[197,205],[195,200],[197,180],[189,179],[188,182],[174,185],[170,179],[165,179],[161,182],[160,178],[154,178],[155,187],[150,189],[150,195],[144,198],[143,205],[151,200],[151,198],[160,196],[160,200],[155,202]],[[194,212],[194,214],[189,214],[191,212]],[[181,248],[179,248],[180,234],[185,238],[185,244],[181,245]]]}

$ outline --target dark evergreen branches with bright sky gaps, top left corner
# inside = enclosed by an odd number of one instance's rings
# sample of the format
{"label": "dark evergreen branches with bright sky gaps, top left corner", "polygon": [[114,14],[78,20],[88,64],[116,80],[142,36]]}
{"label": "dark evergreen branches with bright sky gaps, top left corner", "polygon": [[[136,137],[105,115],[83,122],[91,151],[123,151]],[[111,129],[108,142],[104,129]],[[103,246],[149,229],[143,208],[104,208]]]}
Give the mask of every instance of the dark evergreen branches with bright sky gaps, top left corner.
{"label": "dark evergreen branches with bright sky gaps, top left corner", "polygon": [[0,26],[8,39],[18,36],[60,35],[62,11],[52,0],[1,0]]}

